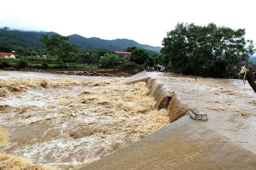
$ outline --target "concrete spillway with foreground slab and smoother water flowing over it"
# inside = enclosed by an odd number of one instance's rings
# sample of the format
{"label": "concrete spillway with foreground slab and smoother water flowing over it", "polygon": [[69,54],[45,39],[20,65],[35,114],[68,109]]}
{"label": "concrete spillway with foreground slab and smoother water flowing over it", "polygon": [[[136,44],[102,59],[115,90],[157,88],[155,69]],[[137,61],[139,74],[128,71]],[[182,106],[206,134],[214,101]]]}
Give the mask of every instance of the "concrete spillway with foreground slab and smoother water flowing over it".
{"label": "concrete spillway with foreground slab and smoother water flowing over it", "polygon": [[[247,83],[146,72],[123,83],[140,81],[170,124],[81,170],[256,168],[256,97]],[[192,119],[189,109],[208,120]]]}

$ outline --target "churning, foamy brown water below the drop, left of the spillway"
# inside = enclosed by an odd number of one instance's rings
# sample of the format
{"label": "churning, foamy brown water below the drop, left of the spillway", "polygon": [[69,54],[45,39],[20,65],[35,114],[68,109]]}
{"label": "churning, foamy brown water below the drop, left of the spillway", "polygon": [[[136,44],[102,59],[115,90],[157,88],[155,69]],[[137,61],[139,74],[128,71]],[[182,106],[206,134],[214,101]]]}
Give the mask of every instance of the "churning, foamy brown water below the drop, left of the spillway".
{"label": "churning, foamy brown water below the drop, left of the spillway", "polygon": [[0,127],[10,138],[0,147],[0,164],[12,154],[78,168],[169,123],[167,111],[147,96],[146,83],[120,80],[0,71]]}

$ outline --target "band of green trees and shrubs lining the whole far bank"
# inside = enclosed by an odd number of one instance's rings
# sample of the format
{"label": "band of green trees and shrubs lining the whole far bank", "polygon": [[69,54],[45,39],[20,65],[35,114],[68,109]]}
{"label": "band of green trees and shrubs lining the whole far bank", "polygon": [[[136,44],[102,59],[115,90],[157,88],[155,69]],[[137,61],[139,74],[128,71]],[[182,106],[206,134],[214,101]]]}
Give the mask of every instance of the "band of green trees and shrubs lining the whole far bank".
{"label": "band of green trees and shrubs lining the whole far bank", "polygon": [[[124,51],[131,52],[129,58],[120,58],[114,51],[80,51],[76,45],[68,43],[69,37],[42,35],[43,53],[31,50],[19,59],[1,59],[0,68],[88,70],[96,69],[92,68],[94,66],[97,69],[134,68],[138,72],[160,64],[174,73],[237,78],[238,70],[232,68],[232,64],[238,63],[238,56],[246,60],[256,51],[253,41],[245,40],[244,35],[244,29],[232,30],[214,23],[206,26],[177,23],[163,39],[160,54],[150,55],[144,49],[128,46]],[[0,51],[11,50],[0,46]]]}

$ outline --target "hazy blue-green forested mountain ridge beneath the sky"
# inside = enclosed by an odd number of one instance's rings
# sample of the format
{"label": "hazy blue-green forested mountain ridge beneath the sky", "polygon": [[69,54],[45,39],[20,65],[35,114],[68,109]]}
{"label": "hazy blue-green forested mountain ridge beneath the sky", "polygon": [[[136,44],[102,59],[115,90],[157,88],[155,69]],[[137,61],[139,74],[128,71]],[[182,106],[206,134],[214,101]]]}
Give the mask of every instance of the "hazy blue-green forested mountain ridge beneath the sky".
{"label": "hazy blue-green forested mountain ridge beneath the sky", "polygon": [[[57,33],[43,31],[19,31],[10,30],[8,28],[0,28],[0,45],[10,46],[14,49],[23,48],[24,50],[44,50],[45,46],[39,40],[42,34],[54,35]],[[137,48],[146,49],[151,53],[160,53],[161,50],[161,47],[142,45],[134,40],[102,40],[96,37],[85,38],[77,34],[69,36],[69,43],[77,45],[80,50],[124,50],[128,46],[137,46]]]}

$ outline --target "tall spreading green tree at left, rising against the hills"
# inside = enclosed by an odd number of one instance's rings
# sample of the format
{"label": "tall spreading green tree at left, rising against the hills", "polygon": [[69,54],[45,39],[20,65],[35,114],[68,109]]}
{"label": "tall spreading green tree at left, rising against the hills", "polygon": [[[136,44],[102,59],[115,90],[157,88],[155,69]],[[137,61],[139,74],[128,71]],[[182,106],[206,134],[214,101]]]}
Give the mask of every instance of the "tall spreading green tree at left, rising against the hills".
{"label": "tall spreading green tree at left, rising against the hills", "polygon": [[42,38],[40,38],[40,41],[45,44],[50,54],[57,56],[59,66],[60,61],[67,61],[65,56],[67,56],[69,52],[77,52],[78,49],[77,46],[66,43],[67,40],[69,40],[68,36],[61,36],[58,34],[52,35],[51,38],[49,38],[48,35],[42,35]]}

